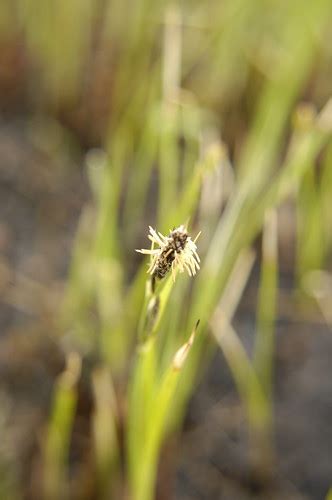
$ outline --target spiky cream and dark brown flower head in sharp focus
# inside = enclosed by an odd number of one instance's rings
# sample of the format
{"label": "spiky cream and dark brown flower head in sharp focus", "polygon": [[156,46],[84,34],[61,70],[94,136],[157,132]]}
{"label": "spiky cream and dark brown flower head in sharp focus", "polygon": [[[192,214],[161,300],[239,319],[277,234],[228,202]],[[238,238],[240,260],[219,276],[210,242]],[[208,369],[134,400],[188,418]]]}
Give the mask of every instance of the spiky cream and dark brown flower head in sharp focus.
{"label": "spiky cream and dark brown flower head in sharp focus", "polygon": [[153,278],[162,279],[170,270],[172,270],[173,280],[177,271],[183,273],[186,270],[189,276],[194,276],[199,269],[200,262],[196,246],[199,235],[200,233],[192,240],[185,226],[181,225],[170,231],[168,236],[163,236],[150,226],[148,238],[152,242],[151,249],[141,249],[136,252],[151,256],[148,273]]}

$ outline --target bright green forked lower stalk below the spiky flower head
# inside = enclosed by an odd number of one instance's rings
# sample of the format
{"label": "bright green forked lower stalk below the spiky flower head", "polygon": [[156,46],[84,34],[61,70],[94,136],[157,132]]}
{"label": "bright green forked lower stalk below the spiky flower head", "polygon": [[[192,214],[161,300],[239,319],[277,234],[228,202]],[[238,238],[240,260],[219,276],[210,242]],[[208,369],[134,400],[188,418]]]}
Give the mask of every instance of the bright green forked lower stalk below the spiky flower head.
{"label": "bright green forked lower stalk below the spiky flower head", "polygon": [[180,373],[197,326],[162,374],[156,365],[156,339],[150,338],[140,348],[132,379],[128,422],[129,480],[134,500],[154,498],[160,449],[175,403]]}

